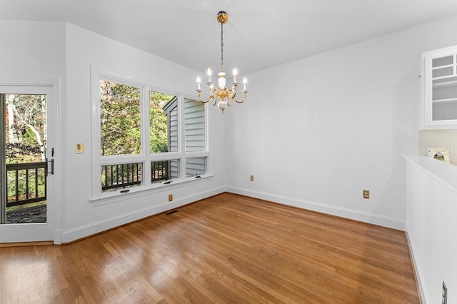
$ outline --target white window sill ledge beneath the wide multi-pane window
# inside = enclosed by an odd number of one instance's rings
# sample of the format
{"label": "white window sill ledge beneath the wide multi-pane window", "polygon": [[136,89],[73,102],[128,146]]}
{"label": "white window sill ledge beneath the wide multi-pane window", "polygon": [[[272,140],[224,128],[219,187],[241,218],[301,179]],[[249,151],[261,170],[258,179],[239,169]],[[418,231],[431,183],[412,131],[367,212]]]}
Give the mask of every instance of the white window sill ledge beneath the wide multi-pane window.
{"label": "white window sill ledge beneath the wide multi-pane window", "polygon": [[[131,187],[125,189],[119,189],[118,191],[113,191],[109,193],[103,193],[100,196],[94,196],[89,201],[94,206],[101,206],[106,205],[109,203],[116,203],[118,201],[125,201],[129,198],[138,198],[141,196],[149,196],[152,193],[160,193],[164,191],[169,191],[170,188],[177,188],[179,186],[184,186],[184,184],[191,185],[194,183],[202,183],[204,181],[209,181],[209,178],[213,177],[213,174],[202,174],[201,176],[191,176],[188,178],[177,178],[169,181],[165,181],[162,183],[152,183],[149,186],[138,186],[138,187]],[[126,191],[128,190],[128,191]],[[126,192],[121,192],[126,191]]]}

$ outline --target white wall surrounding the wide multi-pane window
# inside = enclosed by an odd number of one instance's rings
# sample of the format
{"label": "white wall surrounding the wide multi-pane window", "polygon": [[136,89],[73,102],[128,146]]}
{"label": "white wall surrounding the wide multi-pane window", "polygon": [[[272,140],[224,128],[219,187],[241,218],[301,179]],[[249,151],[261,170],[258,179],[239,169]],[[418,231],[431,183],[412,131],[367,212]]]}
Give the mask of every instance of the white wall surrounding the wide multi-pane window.
{"label": "white wall surrounding the wide multi-pane window", "polygon": [[[107,39],[71,24],[66,25],[67,95],[64,123],[64,196],[62,242],[81,238],[144,216],[166,211],[185,203],[225,191],[224,141],[211,129],[221,128],[223,120],[210,111],[211,171],[214,177],[198,183],[181,183],[105,204],[91,198],[91,66],[132,76],[145,83],[196,96],[196,71],[174,64],[144,51]],[[76,143],[84,143],[84,154],[76,154]],[[174,201],[168,203],[168,195]]]}

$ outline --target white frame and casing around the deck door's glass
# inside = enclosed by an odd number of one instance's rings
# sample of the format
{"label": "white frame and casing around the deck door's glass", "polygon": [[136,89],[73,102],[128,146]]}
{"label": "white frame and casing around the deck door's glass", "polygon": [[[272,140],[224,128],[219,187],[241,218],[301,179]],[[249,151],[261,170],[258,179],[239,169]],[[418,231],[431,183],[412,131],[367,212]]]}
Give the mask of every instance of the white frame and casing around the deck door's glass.
{"label": "white frame and casing around the deck door's glass", "polygon": [[[24,91],[14,91],[23,88]],[[34,88],[37,91],[34,91]],[[13,90],[13,91],[11,91]],[[61,146],[60,146],[60,80],[59,78],[0,78],[0,93],[46,93],[46,156],[54,148],[54,175],[47,177],[46,223],[0,225],[0,243],[53,241],[61,243]]]}

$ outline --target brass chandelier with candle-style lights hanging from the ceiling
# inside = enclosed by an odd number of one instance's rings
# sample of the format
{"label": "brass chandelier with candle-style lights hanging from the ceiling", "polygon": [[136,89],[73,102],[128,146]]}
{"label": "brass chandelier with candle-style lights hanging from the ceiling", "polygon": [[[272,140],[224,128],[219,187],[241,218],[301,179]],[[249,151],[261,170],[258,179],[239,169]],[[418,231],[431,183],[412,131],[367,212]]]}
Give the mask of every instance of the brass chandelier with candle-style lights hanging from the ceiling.
{"label": "brass chandelier with candle-style lights hanging from the ceiling", "polygon": [[208,68],[206,74],[208,74],[208,82],[206,85],[209,88],[209,96],[207,100],[201,99],[201,79],[200,77],[197,78],[197,93],[199,93],[199,100],[201,102],[207,103],[211,101],[213,106],[216,106],[221,109],[222,113],[224,114],[224,110],[232,105],[232,102],[235,101],[236,103],[242,103],[246,100],[246,78],[243,80],[243,100],[237,101],[236,100],[236,88],[238,87],[238,71],[236,69],[233,70],[233,83],[231,83],[231,88],[226,87],[226,73],[224,72],[224,24],[227,23],[229,17],[227,16],[225,11],[219,11],[217,14],[217,21],[221,24],[221,71],[218,73],[218,86],[214,88],[214,82],[211,81],[211,69]]}

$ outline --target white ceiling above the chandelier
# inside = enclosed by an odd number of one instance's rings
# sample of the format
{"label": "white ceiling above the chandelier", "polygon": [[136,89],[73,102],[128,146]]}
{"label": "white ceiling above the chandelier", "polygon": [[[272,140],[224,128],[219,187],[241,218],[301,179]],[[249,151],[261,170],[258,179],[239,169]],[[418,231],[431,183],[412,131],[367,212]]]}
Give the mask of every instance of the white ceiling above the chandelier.
{"label": "white ceiling above the chandelier", "polygon": [[0,19],[65,21],[165,59],[239,74],[457,14],[456,0],[0,0]]}

